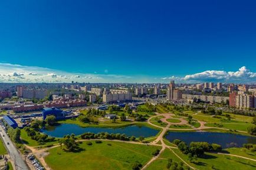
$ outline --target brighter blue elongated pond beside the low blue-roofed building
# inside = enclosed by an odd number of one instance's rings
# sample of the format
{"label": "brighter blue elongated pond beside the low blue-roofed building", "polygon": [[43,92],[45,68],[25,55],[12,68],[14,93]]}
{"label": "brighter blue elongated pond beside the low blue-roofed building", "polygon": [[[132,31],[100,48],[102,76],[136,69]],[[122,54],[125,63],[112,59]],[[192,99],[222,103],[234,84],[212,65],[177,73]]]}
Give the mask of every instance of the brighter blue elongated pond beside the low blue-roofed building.
{"label": "brighter blue elongated pond beside the low blue-roofed building", "polygon": [[124,126],[122,128],[96,128],[96,127],[87,127],[83,128],[76,124],[60,124],[58,126],[48,126],[44,129],[41,129],[41,132],[49,136],[54,136],[57,138],[62,138],[64,135],[81,135],[85,132],[91,132],[97,134],[99,132],[108,132],[109,134],[126,134],[126,136],[135,136],[136,138],[143,136],[145,138],[150,136],[155,136],[159,132],[156,129],[149,128],[147,126]]}

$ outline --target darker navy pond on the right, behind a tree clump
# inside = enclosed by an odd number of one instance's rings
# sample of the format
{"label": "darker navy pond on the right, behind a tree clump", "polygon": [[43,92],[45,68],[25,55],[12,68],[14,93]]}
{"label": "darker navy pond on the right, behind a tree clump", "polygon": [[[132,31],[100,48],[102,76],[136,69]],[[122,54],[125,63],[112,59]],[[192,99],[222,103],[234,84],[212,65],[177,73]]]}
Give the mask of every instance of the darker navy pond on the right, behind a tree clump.
{"label": "darker navy pond on the right, behind a tree clump", "polygon": [[190,142],[208,142],[219,144],[222,148],[242,147],[243,144],[256,144],[256,137],[219,132],[169,132],[166,139],[172,142],[174,139],[190,144]]}

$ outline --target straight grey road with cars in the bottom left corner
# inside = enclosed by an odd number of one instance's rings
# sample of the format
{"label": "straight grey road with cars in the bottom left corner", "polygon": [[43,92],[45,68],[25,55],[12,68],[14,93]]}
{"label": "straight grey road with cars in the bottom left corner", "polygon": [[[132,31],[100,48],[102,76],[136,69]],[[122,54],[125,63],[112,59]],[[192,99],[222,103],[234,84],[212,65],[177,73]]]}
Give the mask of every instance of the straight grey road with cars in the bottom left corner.
{"label": "straight grey road with cars in the bottom left corner", "polygon": [[[11,139],[6,134],[6,132],[4,131],[2,126],[0,126],[0,130],[1,130],[0,135],[1,135],[2,141],[3,141],[4,145],[6,146],[8,154],[11,157],[12,161],[14,161],[14,164],[17,165],[17,169],[18,170],[28,170],[28,166],[23,161],[22,156],[19,155],[17,148],[14,146],[14,144],[12,144]],[[9,145],[7,144],[7,142],[9,142]]]}

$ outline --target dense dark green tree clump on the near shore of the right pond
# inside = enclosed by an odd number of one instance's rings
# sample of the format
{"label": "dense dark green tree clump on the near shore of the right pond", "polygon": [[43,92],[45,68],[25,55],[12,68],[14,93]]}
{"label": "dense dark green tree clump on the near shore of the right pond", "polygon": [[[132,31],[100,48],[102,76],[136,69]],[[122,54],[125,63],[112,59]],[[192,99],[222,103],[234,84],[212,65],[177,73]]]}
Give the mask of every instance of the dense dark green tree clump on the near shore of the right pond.
{"label": "dense dark green tree clump on the near shore of the right pond", "polygon": [[209,144],[208,142],[191,142],[187,145],[185,142],[175,139],[173,143],[178,146],[183,154],[189,155],[189,157],[202,156],[204,155],[204,152],[222,151],[221,145]]}

